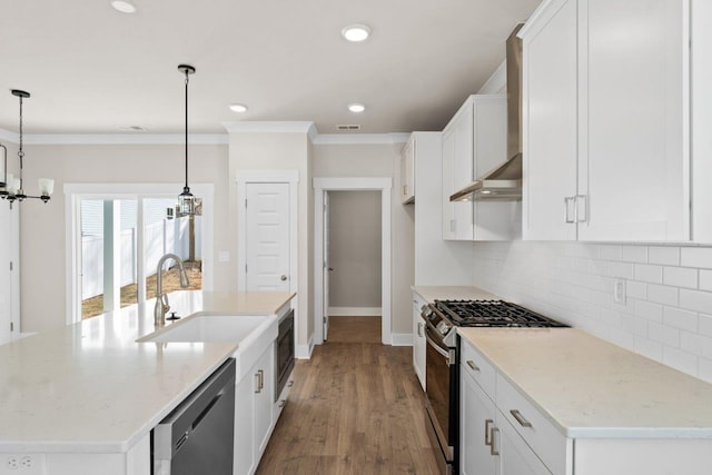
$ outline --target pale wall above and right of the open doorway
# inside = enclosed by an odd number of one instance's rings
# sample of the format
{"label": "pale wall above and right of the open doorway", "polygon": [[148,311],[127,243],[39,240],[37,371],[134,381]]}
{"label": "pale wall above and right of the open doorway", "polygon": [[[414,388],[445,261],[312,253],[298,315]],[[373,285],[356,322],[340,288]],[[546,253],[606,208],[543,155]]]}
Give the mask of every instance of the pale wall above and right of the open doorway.
{"label": "pale wall above and right of the open doorway", "polygon": [[[390,177],[394,189],[400,184],[400,149],[405,144],[340,144],[314,146],[315,178]],[[390,239],[390,330],[393,334],[413,331],[411,286],[414,281],[414,207],[400,204],[392,192]]]}

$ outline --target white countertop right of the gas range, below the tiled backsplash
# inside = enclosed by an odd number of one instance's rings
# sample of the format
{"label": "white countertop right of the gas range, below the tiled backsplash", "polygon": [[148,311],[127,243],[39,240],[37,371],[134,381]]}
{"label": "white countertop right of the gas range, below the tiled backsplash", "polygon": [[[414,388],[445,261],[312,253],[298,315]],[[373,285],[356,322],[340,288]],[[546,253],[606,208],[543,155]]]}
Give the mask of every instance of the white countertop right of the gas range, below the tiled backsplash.
{"label": "white countertop right of the gas range, below the tiled backsplash", "polygon": [[712,438],[712,385],[574,328],[458,328],[568,437]]}

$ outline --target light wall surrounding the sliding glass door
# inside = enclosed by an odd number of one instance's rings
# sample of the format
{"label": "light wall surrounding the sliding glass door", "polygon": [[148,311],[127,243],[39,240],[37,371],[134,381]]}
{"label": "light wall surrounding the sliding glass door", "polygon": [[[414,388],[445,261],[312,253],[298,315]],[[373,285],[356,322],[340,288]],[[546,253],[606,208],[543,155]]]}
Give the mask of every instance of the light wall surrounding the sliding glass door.
{"label": "light wall surrounding the sliding glass door", "polygon": [[[228,222],[227,147],[190,146],[190,182],[215,185],[214,243],[227,249],[228,236],[219,228]],[[41,331],[66,324],[65,318],[65,196],[66,182],[176,182],[184,181],[184,146],[166,145],[52,145],[26,147],[26,190],[37,190],[37,178],[55,179],[48,204],[20,205],[22,330]],[[176,196],[181,188],[176,189]],[[205,263],[214,269],[216,290],[228,290],[235,275],[230,264]],[[234,283],[234,278],[231,279]],[[41,289],[41,297],[38,291]]]}

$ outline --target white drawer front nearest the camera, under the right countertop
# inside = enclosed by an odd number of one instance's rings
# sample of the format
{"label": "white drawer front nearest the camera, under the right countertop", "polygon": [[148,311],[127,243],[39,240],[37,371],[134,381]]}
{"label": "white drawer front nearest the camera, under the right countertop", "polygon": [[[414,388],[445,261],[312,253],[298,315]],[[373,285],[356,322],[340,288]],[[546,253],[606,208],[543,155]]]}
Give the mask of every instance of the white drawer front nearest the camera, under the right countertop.
{"label": "white drawer front nearest the camera, under the right countertop", "polygon": [[502,375],[497,375],[496,405],[553,474],[566,473],[566,437]]}

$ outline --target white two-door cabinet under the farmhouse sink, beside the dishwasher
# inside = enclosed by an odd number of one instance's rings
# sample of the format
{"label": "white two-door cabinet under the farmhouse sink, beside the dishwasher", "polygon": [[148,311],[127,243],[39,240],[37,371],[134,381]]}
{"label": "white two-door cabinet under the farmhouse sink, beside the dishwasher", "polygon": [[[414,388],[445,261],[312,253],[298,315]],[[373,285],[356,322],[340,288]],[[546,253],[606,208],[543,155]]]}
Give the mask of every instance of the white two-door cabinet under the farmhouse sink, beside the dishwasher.
{"label": "white two-door cabinet under the farmhouse sink, beside the dishwasher", "polygon": [[237,382],[235,393],[236,475],[253,474],[269,442],[274,403],[274,343]]}

